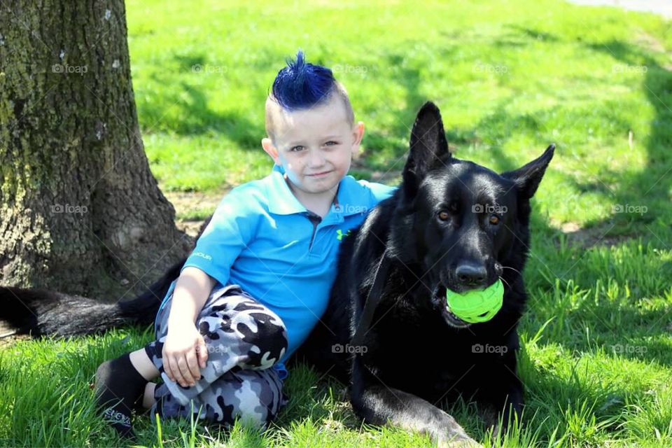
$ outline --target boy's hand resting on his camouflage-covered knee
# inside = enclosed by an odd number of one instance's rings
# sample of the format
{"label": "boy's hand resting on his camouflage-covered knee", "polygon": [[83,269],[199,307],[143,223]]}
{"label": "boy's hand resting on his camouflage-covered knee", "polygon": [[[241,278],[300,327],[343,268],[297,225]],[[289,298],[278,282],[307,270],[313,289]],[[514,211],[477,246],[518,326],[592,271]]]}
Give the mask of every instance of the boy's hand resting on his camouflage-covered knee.
{"label": "boy's hand resting on his camouflage-covered knee", "polygon": [[193,386],[201,379],[200,368],[205,368],[208,351],[205,341],[193,322],[172,323],[163,344],[164,370],[172,381],[183,387]]}

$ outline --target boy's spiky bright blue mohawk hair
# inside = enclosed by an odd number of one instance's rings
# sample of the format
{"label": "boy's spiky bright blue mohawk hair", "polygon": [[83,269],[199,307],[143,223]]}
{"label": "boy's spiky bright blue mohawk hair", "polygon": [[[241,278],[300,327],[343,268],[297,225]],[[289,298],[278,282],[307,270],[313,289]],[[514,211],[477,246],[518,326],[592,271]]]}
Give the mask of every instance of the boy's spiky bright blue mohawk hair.
{"label": "boy's spiky bright blue mohawk hair", "polygon": [[296,60],[287,59],[287,66],[275,77],[273,97],[288,111],[307,109],[325,100],[335,83],[330,69],[309,64],[299,50]]}

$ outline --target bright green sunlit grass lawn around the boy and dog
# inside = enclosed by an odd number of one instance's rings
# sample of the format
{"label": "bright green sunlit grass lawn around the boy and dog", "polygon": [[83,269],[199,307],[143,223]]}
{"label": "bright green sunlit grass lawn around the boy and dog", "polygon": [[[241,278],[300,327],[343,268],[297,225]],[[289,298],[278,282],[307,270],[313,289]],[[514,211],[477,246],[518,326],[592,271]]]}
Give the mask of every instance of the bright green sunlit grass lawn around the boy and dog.
{"label": "bright green sunlit grass lawn around the boy and dog", "polygon": [[[167,192],[221,195],[265,176],[263,102],[297,48],[337,69],[367,124],[352,174],[389,182],[431,99],[458,158],[512,169],[554,141],[535,197],[521,322],[526,411],[503,439],[470,403],[451,409],[486,445],[672,446],[672,24],[560,1],[359,5],[127,1],[134,90],[151,169]],[[194,66],[200,66],[194,69]],[[631,141],[629,134],[631,133]],[[211,208],[183,207],[183,218]],[[116,446],[92,415],[103,360],[151,328],[0,351],[0,445]],[[361,426],[342,386],[307,367],[266,433],[138,419],[158,446],[430,446]]]}

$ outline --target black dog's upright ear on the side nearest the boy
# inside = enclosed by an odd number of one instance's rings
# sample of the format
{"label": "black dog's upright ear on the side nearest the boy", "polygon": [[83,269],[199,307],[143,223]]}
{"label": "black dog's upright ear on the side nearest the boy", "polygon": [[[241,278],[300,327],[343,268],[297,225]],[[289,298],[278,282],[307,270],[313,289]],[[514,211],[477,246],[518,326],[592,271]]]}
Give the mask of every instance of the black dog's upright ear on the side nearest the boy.
{"label": "black dog's upright ear on the side nearest the boy", "polygon": [[433,102],[426,102],[418,112],[411,131],[410,153],[403,172],[406,193],[415,195],[427,172],[446,163],[449,158],[439,108]]}

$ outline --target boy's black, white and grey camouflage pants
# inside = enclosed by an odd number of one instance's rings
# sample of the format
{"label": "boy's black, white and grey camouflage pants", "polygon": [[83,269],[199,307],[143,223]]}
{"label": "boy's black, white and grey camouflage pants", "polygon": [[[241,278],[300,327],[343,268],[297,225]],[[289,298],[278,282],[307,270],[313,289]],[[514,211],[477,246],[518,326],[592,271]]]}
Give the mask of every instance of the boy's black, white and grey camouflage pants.
{"label": "boy's black, white and grey camouflage pants", "polygon": [[193,414],[227,427],[238,418],[265,428],[287,402],[278,372],[269,368],[287,349],[284,323],[238,285],[215,288],[197,319],[208,350],[206,367],[194,386],[183,387],[167,377],[161,360],[173,288],[157,315],[156,340],[145,347],[164,381],[155,388],[152,421],[155,414]]}

